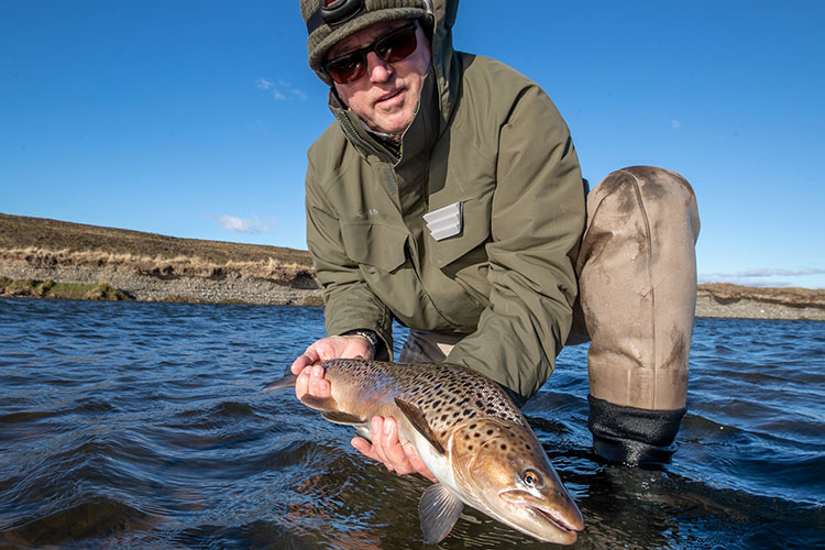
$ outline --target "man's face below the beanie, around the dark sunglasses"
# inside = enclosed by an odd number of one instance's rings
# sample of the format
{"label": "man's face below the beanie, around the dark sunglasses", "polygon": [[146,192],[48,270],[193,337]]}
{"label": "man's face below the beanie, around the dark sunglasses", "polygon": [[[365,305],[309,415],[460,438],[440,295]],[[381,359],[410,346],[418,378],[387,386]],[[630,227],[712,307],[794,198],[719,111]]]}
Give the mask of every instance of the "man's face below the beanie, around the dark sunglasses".
{"label": "man's face below the beanie, around the dark sunglasses", "polygon": [[[367,46],[409,20],[375,23],[352,34],[327,53],[327,59]],[[430,43],[420,25],[416,29],[418,47],[409,57],[389,64],[375,52],[366,56],[366,74],[349,84],[336,82],[338,97],[373,130],[398,134],[409,127],[430,65]]]}

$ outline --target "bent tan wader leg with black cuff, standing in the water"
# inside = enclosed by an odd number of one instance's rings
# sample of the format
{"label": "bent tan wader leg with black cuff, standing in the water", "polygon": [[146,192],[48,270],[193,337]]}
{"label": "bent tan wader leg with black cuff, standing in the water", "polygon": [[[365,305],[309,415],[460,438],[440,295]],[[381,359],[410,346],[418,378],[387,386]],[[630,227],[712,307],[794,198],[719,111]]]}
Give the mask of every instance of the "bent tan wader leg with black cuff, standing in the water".
{"label": "bent tan wader leg with black cuff, standing in the water", "polygon": [[595,451],[629,464],[670,461],[688,397],[696,307],[696,198],[680,175],[634,166],[587,196],[579,255],[591,337]]}

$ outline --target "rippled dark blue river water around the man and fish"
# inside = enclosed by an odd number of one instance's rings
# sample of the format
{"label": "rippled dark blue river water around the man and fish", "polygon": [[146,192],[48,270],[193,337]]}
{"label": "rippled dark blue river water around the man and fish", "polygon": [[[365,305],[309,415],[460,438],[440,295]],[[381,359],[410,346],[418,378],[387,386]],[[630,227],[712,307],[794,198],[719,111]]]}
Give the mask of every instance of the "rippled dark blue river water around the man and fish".
{"label": "rippled dark blue river water around the man and fish", "polygon": [[[322,331],[318,308],[0,299],[0,548],[426,548],[428,482],[261,392]],[[825,323],[697,319],[663,472],[597,460],[586,394],[569,348],[524,409],[572,548],[825,548]],[[552,548],[469,508],[440,546]]]}

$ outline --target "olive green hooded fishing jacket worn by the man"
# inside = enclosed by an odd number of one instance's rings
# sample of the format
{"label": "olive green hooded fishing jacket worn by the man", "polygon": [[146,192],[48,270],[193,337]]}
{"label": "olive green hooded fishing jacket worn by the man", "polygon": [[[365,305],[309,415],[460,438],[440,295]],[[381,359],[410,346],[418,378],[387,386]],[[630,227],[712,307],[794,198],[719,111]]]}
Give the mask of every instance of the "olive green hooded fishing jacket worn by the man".
{"label": "olive green hooded fishing jacket worn by the man", "polygon": [[[584,190],[566,124],[535,82],[453,52],[458,0],[436,0],[433,63],[400,155],[330,94],[337,121],[310,147],[307,243],[327,331],[392,321],[464,332],[447,360],[527,399],[570,330]],[[461,233],[422,216],[460,202]]]}

